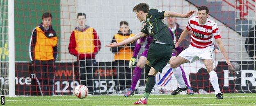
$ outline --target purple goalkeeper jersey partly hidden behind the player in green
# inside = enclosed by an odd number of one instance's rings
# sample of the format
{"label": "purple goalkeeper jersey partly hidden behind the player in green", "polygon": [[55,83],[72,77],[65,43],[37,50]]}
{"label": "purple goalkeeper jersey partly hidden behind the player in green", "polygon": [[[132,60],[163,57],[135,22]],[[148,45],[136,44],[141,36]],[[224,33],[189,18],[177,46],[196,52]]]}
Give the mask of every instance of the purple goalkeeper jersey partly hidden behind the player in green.
{"label": "purple goalkeeper jersey partly hidden behind the player in green", "polygon": [[[168,28],[169,29],[169,28]],[[172,33],[171,29],[169,29],[169,32],[171,33],[171,38],[174,40],[174,33]],[[153,37],[152,36],[145,36],[145,37],[142,37],[140,39],[137,40],[136,44],[135,44],[135,48],[133,50],[133,57],[137,57],[138,53],[139,53],[139,50],[142,46],[142,44],[145,42],[145,40],[147,39],[147,44],[145,46],[145,50],[144,52],[142,53],[141,56],[145,56],[147,55],[147,52],[149,50],[149,45],[153,42]],[[174,41],[176,43],[176,41]],[[182,49],[180,46],[178,46],[177,48],[175,48],[175,50],[177,51],[177,53],[174,51],[174,53],[172,54],[175,54],[178,55],[179,53],[181,53]]]}

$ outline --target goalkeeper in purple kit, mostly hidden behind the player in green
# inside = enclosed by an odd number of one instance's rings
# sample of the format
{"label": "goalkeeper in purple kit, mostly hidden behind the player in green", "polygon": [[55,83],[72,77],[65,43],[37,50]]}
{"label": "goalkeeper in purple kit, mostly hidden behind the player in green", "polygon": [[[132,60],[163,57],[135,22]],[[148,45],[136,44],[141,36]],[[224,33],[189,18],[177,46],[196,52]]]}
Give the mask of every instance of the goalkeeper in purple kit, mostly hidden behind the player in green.
{"label": "goalkeeper in purple kit, mostly hidden behind the player in green", "polygon": [[[144,25],[146,24],[146,22],[143,22],[142,27],[144,27]],[[172,33],[171,29],[169,29],[171,36],[174,40],[174,42],[176,42],[176,39],[174,37],[174,34]],[[129,62],[129,67],[131,68],[132,65],[135,64],[135,60],[136,57],[139,53],[139,50],[142,46],[142,44],[145,42],[145,40],[147,40],[147,44],[145,46],[145,50],[144,52],[140,55],[139,57],[139,61],[136,64],[136,68],[133,70],[133,78],[132,78],[132,86],[131,88],[124,94],[125,97],[129,97],[130,95],[134,95],[135,94],[135,87],[137,85],[137,82],[139,81],[140,75],[141,75],[141,71],[142,68],[145,66],[145,72],[146,72],[146,76],[148,76],[149,70],[150,70],[150,66],[148,64],[146,64],[146,57],[147,57],[147,52],[149,49],[149,45],[153,42],[153,37],[152,36],[145,36],[143,38],[140,38],[139,40],[137,40],[136,44],[135,44],[135,49],[133,51],[133,57]],[[175,48],[176,51],[172,52],[172,57],[176,57],[179,53],[181,53],[182,49],[180,46],[178,46],[177,48]],[[169,63],[171,62],[172,58],[170,59]],[[194,91],[192,90],[192,88],[190,87],[190,85],[187,83],[187,77],[185,75],[185,72],[183,70],[183,68],[180,66],[181,71],[182,71],[182,77],[185,81],[185,84],[187,85],[188,89],[187,89],[187,93],[189,95],[193,95]],[[171,68],[169,69],[171,70]]]}

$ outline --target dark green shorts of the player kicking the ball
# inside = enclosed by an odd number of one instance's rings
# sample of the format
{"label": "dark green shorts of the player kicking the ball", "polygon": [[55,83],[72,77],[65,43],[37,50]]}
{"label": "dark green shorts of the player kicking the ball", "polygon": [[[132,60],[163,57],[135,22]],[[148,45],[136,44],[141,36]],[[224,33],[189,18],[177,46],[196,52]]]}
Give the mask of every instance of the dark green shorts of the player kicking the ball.
{"label": "dark green shorts of the player kicking the ball", "polygon": [[169,44],[151,43],[147,55],[149,65],[155,68],[156,71],[162,73],[162,69],[171,59],[171,51],[173,47]]}

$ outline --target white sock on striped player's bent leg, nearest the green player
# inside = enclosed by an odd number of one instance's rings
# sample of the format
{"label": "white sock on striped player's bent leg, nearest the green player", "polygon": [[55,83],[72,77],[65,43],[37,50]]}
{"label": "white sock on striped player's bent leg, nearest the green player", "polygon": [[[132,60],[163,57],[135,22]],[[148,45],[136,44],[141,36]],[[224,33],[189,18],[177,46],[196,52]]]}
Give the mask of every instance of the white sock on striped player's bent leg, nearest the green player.
{"label": "white sock on striped player's bent leg, nearest the green player", "polygon": [[179,88],[185,88],[186,84],[185,84],[184,79],[182,77],[181,68],[180,67],[172,68],[172,70],[173,70],[174,76],[176,77],[176,80],[179,84]]}

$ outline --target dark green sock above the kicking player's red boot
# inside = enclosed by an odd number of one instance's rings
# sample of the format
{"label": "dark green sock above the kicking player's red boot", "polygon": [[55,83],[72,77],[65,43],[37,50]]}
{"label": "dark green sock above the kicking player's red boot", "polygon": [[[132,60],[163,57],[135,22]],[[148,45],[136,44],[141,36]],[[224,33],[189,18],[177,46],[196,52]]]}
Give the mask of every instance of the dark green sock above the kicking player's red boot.
{"label": "dark green sock above the kicking player's red boot", "polygon": [[155,86],[155,76],[148,75],[148,81],[146,83],[145,93],[143,97],[148,98],[154,86]]}

